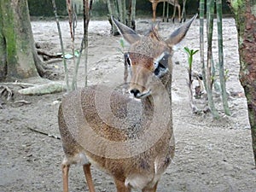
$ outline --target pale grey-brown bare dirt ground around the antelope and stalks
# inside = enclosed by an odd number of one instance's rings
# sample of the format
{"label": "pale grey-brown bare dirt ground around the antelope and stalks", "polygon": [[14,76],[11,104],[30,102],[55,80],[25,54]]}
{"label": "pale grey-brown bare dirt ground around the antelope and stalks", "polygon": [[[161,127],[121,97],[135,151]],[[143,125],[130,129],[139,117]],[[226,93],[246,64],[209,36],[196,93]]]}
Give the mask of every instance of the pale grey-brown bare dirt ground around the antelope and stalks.
{"label": "pale grey-brown bare dirt ground around the antelope and stalks", "polygon": [[[137,19],[137,32],[143,34],[151,20]],[[160,34],[164,38],[180,24],[161,23]],[[221,118],[196,115],[189,107],[187,81],[187,55],[180,49],[199,49],[199,20],[195,20],[187,37],[177,46],[173,55],[172,107],[176,155],[171,166],[160,179],[157,191],[166,192],[255,192],[256,170],[253,170],[251,132],[247,119],[247,101],[239,83],[239,56],[235,21],[224,19],[224,65],[229,70],[227,90],[230,92],[230,116],[225,116],[218,93],[214,94]],[[62,36],[67,52],[71,52],[67,21],[61,21]],[[42,49],[60,52],[55,21],[32,21],[35,41]],[[119,37],[109,34],[107,20],[90,21],[89,84],[106,83],[113,76],[123,77],[123,55]],[[217,60],[217,28],[213,37],[213,53]],[[76,49],[79,49],[83,32],[80,20],[76,32]],[[207,40],[205,40],[207,42]],[[79,86],[84,84],[84,67],[79,67]],[[48,64],[53,74],[50,78],[63,82],[62,62]],[[67,61],[73,72],[73,60]],[[194,58],[194,69],[201,71],[200,55]],[[70,74],[71,76],[72,74]],[[25,82],[25,81],[24,81]],[[42,84],[42,79],[27,79],[26,83]],[[48,82],[48,80],[44,80]],[[61,140],[47,137],[31,129],[60,137],[57,110],[63,93],[44,96],[20,96],[20,86],[11,86],[13,100],[1,99],[0,109],[0,191],[61,191]],[[25,100],[29,102],[17,102]],[[198,101],[201,102],[201,101]],[[115,191],[113,179],[93,167],[96,191]],[[70,191],[88,191],[84,183],[82,167],[72,166]]]}

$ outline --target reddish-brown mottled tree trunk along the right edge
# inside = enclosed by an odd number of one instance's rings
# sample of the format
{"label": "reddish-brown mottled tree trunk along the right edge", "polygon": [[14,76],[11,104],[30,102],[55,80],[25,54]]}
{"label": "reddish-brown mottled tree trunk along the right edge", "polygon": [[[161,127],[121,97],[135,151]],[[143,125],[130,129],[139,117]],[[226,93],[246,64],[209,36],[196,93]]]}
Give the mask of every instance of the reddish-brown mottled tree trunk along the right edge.
{"label": "reddish-brown mottled tree trunk along the right edge", "polygon": [[240,81],[247,97],[256,166],[256,1],[230,0],[235,14],[240,55]]}

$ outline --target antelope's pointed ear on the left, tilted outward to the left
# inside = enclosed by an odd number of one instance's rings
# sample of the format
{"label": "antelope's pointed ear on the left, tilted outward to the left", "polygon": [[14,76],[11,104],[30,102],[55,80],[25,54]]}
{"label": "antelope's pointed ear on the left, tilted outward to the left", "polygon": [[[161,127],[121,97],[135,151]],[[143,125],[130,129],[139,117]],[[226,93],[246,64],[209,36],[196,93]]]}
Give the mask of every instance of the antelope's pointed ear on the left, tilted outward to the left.
{"label": "antelope's pointed ear on the left, tilted outward to the left", "polygon": [[113,20],[113,23],[118,28],[119,33],[125,38],[125,41],[127,41],[129,44],[133,44],[140,40],[139,35],[137,35],[136,32],[134,32],[130,27],[125,26],[123,23],[119,22],[118,20],[114,19],[113,16],[111,17]]}

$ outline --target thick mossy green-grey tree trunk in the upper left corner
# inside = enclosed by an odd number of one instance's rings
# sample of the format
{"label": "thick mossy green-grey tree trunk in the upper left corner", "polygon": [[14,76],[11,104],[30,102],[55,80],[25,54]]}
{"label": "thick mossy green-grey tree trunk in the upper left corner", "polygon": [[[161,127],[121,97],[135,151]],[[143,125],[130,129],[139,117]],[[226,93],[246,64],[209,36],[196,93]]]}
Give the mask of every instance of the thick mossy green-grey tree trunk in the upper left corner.
{"label": "thick mossy green-grey tree trunk in the upper left corner", "polygon": [[26,1],[0,0],[0,80],[43,75]]}

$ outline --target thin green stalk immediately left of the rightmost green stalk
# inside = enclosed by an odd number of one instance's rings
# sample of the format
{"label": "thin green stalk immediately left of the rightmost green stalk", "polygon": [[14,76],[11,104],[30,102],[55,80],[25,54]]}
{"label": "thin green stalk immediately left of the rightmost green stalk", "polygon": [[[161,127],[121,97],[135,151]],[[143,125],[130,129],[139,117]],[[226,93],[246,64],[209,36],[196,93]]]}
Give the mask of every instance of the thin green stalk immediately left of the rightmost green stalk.
{"label": "thin green stalk immediately left of the rightmost green stalk", "polygon": [[214,0],[207,1],[207,96],[213,119],[218,119],[218,111],[212,98],[212,28],[213,28]]}

